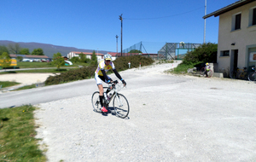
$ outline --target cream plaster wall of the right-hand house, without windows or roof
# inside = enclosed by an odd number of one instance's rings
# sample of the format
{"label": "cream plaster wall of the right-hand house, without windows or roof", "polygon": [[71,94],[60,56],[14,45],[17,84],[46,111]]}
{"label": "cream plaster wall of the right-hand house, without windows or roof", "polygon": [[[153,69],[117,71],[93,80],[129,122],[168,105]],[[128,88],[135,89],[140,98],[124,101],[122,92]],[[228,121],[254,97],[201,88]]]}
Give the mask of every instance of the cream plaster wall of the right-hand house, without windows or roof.
{"label": "cream plaster wall of the right-hand house, without windows or roof", "polygon": [[[249,61],[250,53],[256,52],[256,26],[249,26],[249,9],[256,2],[248,3],[238,9],[219,15],[218,26],[218,67],[217,72],[233,70],[235,50],[238,49],[237,67],[251,67],[255,61]],[[232,31],[232,15],[241,13],[241,29]],[[235,43],[235,45],[231,45]],[[229,50],[229,56],[222,56]]]}

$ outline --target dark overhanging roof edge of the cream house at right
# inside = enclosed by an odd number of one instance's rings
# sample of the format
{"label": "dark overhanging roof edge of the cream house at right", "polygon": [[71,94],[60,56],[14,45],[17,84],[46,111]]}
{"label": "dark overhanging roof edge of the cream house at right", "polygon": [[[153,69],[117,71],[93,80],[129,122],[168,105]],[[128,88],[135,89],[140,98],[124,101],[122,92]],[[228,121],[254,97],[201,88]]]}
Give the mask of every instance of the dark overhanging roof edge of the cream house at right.
{"label": "dark overhanging roof edge of the cream house at right", "polygon": [[203,16],[203,19],[207,19],[208,17],[211,17],[212,15],[214,15],[214,17],[217,17],[218,15],[220,14],[224,14],[230,10],[233,10],[233,9],[236,9],[236,8],[239,8],[247,3],[253,3],[254,1],[256,0],[240,0],[240,1],[237,1],[236,3],[232,3],[222,9],[218,9],[217,11],[214,11],[212,12],[211,14],[207,14],[205,16]]}

